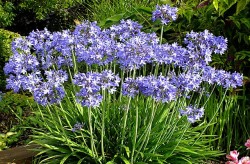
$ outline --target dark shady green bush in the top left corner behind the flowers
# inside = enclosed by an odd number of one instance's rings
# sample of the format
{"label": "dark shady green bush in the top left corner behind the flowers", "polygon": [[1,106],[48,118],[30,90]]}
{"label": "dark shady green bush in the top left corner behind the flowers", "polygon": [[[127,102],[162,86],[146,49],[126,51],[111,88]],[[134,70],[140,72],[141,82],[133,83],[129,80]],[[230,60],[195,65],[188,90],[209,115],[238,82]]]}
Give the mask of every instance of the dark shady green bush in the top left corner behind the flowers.
{"label": "dark shady green bush in the top left corner behind the flowers", "polygon": [[51,31],[70,28],[74,19],[86,15],[84,0],[0,1],[0,28],[27,35],[47,27]]}

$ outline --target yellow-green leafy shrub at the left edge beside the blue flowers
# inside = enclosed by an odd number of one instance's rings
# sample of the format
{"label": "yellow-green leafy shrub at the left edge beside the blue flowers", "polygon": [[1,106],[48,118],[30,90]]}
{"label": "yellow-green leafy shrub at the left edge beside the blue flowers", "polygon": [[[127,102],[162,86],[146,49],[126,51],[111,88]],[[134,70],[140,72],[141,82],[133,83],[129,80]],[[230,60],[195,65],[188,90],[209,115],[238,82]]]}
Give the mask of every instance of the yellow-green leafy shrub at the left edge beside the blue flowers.
{"label": "yellow-green leafy shrub at the left edge beside the blue flowers", "polygon": [[8,61],[9,57],[12,55],[11,42],[14,38],[20,37],[19,34],[0,29],[0,90],[5,90],[5,76],[3,72],[3,67],[5,62]]}

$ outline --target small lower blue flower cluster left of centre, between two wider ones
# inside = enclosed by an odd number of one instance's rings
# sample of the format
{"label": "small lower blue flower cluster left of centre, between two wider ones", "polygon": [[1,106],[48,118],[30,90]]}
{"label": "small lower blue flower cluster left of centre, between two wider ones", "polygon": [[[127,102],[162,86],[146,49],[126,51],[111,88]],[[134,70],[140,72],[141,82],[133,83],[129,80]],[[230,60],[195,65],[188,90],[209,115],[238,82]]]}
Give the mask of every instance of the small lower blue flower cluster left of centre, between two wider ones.
{"label": "small lower blue flower cluster left of centre, between two wider ones", "polygon": [[75,74],[73,82],[80,87],[76,96],[82,106],[98,107],[102,101],[101,89],[107,89],[108,92],[114,93],[116,87],[119,86],[120,78],[110,70],[105,70],[101,73]]}

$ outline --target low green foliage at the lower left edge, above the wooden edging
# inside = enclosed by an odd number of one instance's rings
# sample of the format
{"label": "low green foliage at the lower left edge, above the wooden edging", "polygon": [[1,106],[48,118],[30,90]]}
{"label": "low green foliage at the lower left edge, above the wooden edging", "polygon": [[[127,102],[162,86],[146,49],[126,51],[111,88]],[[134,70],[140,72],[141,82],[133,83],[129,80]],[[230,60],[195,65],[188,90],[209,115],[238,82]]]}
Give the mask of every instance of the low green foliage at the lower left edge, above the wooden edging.
{"label": "low green foliage at the lower left edge, above the wooden edging", "polygon": [[31,107],[34,108],[35,104],[29,96],[13,92],[3,94],[0,101],[0,132],[12,134],[4,138],[6,147],[27,142],[31,131],[24,127],[34,126]]}

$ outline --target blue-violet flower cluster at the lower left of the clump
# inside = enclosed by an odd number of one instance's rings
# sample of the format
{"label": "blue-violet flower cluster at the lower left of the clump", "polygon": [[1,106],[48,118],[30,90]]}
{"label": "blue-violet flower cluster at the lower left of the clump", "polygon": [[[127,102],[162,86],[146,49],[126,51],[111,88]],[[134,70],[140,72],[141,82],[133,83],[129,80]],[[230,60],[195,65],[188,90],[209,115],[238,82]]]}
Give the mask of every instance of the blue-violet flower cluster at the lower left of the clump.
{"label": "blue-violet flower cluster at the lower left of the clump", "polygon": [[42,77],[40,71],[30,74],[13,74],[9,75],[7,89],[13,89],[14,92],[19,90],[28,90],[33,93],[35,101],[41,105],[54,104],[60,102],[65,96],[63,83],[67,81],[65,71],[46,71],[46,77]]}

